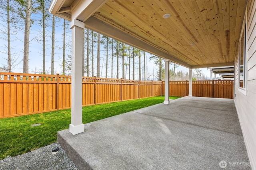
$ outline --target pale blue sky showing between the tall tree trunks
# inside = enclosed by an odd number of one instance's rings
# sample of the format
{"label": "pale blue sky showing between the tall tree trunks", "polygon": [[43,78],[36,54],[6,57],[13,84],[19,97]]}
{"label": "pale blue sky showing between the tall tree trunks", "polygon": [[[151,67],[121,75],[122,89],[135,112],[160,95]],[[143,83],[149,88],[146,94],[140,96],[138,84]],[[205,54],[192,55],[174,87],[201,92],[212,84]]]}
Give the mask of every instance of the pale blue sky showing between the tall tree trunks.
{"label": "pale blue sky showing between the tall tree trunks", "polygon": [[[35,21],[35,23],[31,26],[31,30],[30,30],[30,47],[29,47],[29,72],[30,73],[34,73],[34,72],[40,72],[42,70],[42,41],[36,41],[37,37],[40,37],[40,30],[42,30],[42,27],[40,26],[39,22],[40,22],[40,18],[42,16],[40,16],[40,14],[33,14],[31,16],[31,18],[36,19],[38,21]],[[3,18],[0,18],[0,22],[3,23],[4,25],[6,25],[6,21],[4,21]],[[13,72],[23,72],[23,40],[24,40],[24,24],[21,24],[21,28],[19,30],[17,30],[17,33],[14,35],[11,35],[11,47],[12,47],[12,53],[17,53],[16,57],[18,57],[18,62],[20,62],[20,64],[18,64],[17,66],[15,66],[15,68],[12,69]],[[60,18],[56,18],[56,29],[55,29],[55,62],[54,62],[54,70],[55,73],[61,73],[62,72],[62,67],[60,66],[60,64],[62,63],[62,45],[63,45],[63,19]],[[0,29],[3,30],[4,29],[4,25],[0,24]],[[49,27],[47,27],[46,29],[46,70],[48,70],[48,72],[50,73],[50,66],[51,66],[51,34],[52,34],[52,27],[51,27],[51,21],[49,21]],[[67,22],[67,26],[69,27],[69,22]],[[11,27],[13,27],[13,25],[11,25]],[[13,29],[14,30],[14,29]],[[70,42],[70,38],[71,38],[71,30],[68,28],[67,32],[66,32],[66,43]],[[0,37],[4,37],[4,34],[2,31],[0,31]],[[4,54],[3,52],[7,49],[4,46],[7,46],[7,41],[5,41],[4,39],[0,39],[0,67],[4,67],[4,65],[6,65],[6,60],[7,54]],[[95,48],[96,49],[96,45]],[[103,48],[101,48],[103,49]],[[96,61],[96,51],[94,52],[94,61]],[[66,50],[66,57],[67,55],[71,54],[71,49],[67,49]],[[147,59],[149,59],[149,57],[151,56],[149,53],[146,53]],[[103,66],[101,68],[102,71],[102,77],[105,76],[105,64],[103,62],[105,62],[105,60],[103,61],[103,59],[106,59],[105,53],[101,50],[101,66]],[[109,59],[110,61],[110,59]],[[121,62],[121,59],[120,59]],[[142,62],[142,67],[144,67],[144,59],[142,58],[141,60]],[[136,63],[138,63],[138,60],[136,60]],[[157,66],[156,64],[154,64],[153,61],[149,61],[147,60],[147,70],[148,70],[148,76],[153,74],[156,75],[157,72]],[[116,63],[115,63],[116,65]],[[138,65],[138,64],[137,64]],[[94,63],[94,66],[96,66],[96,62]],[[110,63],[109,63],[109,67],[110,67]],[[138,66],[137,66],[138,67]],[[173,68],[173,64],[170,65],[170,68]],[[138,69],[138,68],[137,68]],[[137,70],[136,69],[136,70]],[[143,70],[143,69],[142,69]],[[154,70],[154,71],[153,71]],[[188,72],[188,68],[183,67],[183,66],[179,66],[177,68],[177,70],[181,70],[182,72]],[[207,76],[210,77],[210,70],[207,70],[207,68],[201,68],[202,72]],[[95,74],[96,74],[96,68],[95,68]],[[110,68],[108,69],[108,74],[110,74],[111,70]],[[135,71],[136,72],[136,71]],[[114,75],[116,75],[116,68],[114,69]],[[119,68],[119,76],[122,76],[122,65],[120,64],[120,68]],[[152,76],[153,77],[153,76]],[[151,78],[152,78],[151,77]],[[116,78],[116,77],[115,77]],[[128,78],[128,75],[127,77]],[[137,79],[138,76],[136,75],[135,78]]]}

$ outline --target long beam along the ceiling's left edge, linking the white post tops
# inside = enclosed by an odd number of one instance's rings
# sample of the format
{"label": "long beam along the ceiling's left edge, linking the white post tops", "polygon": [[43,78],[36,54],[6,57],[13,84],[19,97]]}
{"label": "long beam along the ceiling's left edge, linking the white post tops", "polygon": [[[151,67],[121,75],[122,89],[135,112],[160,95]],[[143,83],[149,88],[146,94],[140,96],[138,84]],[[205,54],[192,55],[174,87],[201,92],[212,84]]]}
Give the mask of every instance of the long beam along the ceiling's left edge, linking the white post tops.
{"label": "long beam along the ceiling's left edge, linking the white post tops", "polygon": [[184,67],[192,68],[191,65],[189,65],[175,57],[172,57],[168,53],[161,51],[160,49],[146,43],[145,41],[137,39],[136,37],[133,37],[132,35],[130,35],[128,33],[124,33],[122,31],[120,31],[119,29],[116,29],[115,27],[112,27],[94,17],[88,18],[84,22],[84,26],[88,29],[91,29],[91,30],[101,33],[103,35],[112,37],[118,41],[124,42],[128,45],[131,45],[133,47],[136,47],[138,49],[141,49],[141,50],[151,53],[153,55],[159,56],[163,59],[169,59],[170,61],[177,63],[179,65],[182,65]]}

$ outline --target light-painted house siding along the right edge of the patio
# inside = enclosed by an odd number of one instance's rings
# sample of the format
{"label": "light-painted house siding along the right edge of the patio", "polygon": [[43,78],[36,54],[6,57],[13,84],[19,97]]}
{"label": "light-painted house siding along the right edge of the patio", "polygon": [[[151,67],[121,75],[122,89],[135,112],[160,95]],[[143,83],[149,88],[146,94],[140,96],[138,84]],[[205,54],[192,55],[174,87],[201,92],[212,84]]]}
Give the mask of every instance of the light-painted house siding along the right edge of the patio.
{"label": "light-painted house siding along the right edge of the patio", "polygon": [[235,104],[252,169],[256,170],[256,1],[249,0],[246,20],[246,94],[239,89],[239,53],[235,59]]}

